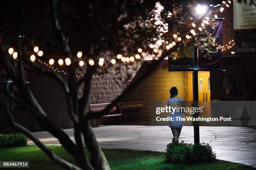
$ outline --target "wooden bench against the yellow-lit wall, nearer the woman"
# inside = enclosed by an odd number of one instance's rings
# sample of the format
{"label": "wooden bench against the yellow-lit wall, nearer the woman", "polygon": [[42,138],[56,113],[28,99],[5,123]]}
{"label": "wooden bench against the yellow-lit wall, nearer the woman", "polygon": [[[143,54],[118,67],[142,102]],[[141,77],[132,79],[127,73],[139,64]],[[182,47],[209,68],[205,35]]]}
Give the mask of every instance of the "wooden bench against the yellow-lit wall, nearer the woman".
{"label": "wooden bench against the yellow-lit wall, nearer the woman", "polygon": [[150,111],[144,110],[142,101],[120,102],[118,106],[120,114],[124,115],[124,122],[126,122],[127,115],[138,114],[146,114],[146,120],[148,120],[148,113],[150,113]]}

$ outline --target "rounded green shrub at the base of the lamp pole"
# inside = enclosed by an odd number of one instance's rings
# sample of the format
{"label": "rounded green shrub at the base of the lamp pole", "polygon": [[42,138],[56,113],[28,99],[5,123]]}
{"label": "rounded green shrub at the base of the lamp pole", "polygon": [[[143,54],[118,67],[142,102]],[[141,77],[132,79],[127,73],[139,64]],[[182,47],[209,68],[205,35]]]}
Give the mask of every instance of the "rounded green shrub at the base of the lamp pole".
{"label": "rounded green shrub at the base of the lamp pole", "polygon": [[212,147],[205,143],[169,143],[165,151],[166,161],[169,163],[205,163],[216,160]]}

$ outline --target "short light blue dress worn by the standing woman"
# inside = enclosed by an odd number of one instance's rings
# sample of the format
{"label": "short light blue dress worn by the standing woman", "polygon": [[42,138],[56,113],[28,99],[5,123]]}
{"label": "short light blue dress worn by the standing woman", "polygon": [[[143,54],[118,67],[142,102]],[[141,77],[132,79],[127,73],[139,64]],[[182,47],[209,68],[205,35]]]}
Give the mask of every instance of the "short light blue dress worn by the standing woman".
{"label": "short light blue dress worn by the standing woman", "polygon": [[[182,98],[178,98],[178,99],[173,99],[173,98],[170,98],[168,101],[167,101],[167,105],[171,105],[171,102],[173,101],[183,101]],[[172,114],[172,111],[169,112],[169,117],[173,117],[173,121],[169,121],[169,127],[170,128],[182,128],[183,126],[183,121],[182,120],[178,120],[177,121],[177,118],[176,117],[180,117],[181,119],[183,118],[182,116],[182,112],[174,112]]]}

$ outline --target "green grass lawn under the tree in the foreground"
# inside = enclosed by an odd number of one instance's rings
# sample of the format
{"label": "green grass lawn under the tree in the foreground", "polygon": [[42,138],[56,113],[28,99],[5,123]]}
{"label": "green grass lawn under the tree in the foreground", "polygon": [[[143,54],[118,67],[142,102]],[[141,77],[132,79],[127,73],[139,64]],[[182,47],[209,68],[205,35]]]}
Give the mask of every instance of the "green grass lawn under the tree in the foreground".
{"label": "green grass lawn under the tree in the foreground", "polygon": [[[61,146],[49,146],[61,158],[74,163]],[[170,164],[164,162],[164,153],[127,149],[103,149],[112,170],[256,170],[247,165],[217,160],[213,163],[197,165]],[[18,148],[1,148],[0,161],[29,161],[24,170],[61,170],[37,146],[28,145]],[[7,168],[11,170],[12,168]],[[17,168],[13,168],[17,170]],[[23,168],[18,168],[19,170]],[[1,168],[0,168],[1,170]]]}

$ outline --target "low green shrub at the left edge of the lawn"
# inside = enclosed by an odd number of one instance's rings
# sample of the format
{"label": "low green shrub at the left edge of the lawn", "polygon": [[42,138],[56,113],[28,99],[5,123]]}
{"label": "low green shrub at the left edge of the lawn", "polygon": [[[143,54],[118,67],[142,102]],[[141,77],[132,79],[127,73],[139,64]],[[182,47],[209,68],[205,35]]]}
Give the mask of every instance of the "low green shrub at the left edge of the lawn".
{"label": "low green shrub at the left edge of the lawn", "polygon": [[12,133],[9,135],[0,135],[0,148],[26,146],[27,143],[28,139],[23,134]]}

